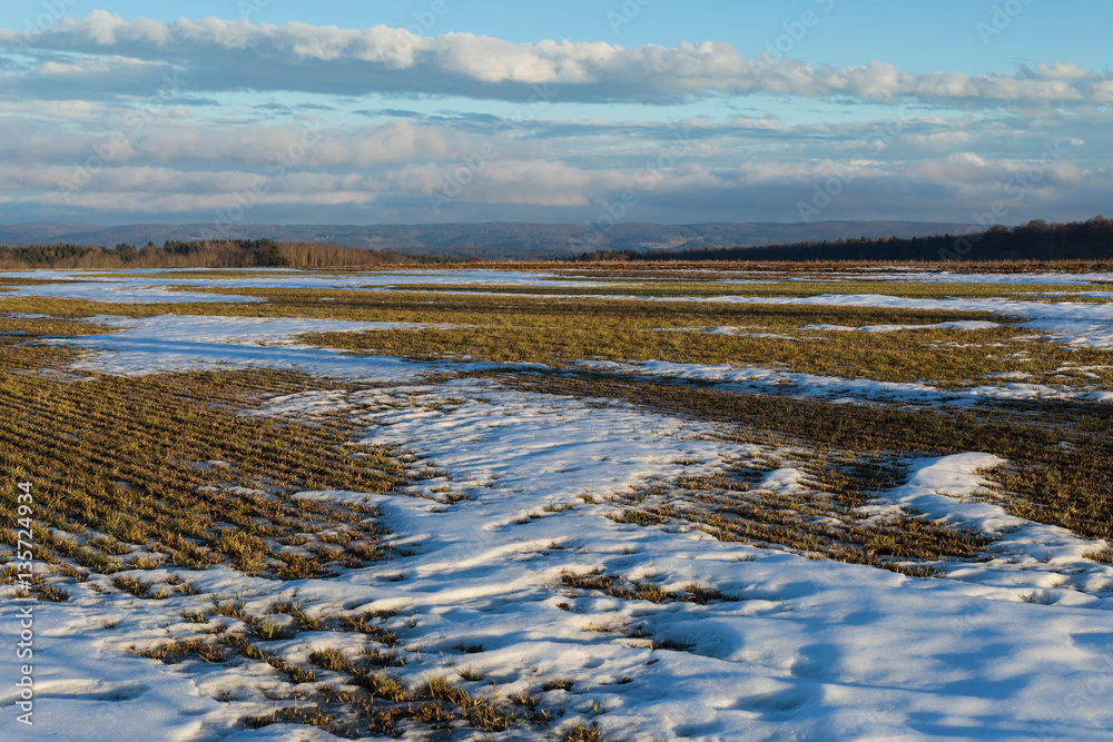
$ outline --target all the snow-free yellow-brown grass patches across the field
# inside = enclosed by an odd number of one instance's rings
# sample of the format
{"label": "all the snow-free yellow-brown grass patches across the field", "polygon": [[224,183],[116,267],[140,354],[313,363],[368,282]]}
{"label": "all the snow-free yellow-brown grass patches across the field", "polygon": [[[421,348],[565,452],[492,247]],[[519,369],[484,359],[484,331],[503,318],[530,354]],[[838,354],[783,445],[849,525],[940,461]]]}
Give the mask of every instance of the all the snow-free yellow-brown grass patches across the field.
{"label": "all the snow-free yellow-brown grass patches across the field", "polygon": [[[809,268],[811,269],[811,268]],[[815,268],[820,270],[819,268]],[[193,277],[196,277],[194,275]],[[3,283],[3,281],[0,281]],[[12,284],[14,285],[14,284]],[[861,284],[853,290],[866,290]],[[668,295],[720,290],[703,281],[650,286]],[[731,290],[749,296],[807,296],[847,285],[747,285]],[[1015,291],[1028,287],[1009,287]],[[1048,287],[1040,287],[1048,288]],[[1054,287],[1058,288],[1058,287]],[[934,296],[938,287],[870,285],[869,290]],[[532,289],[531,289],[532,290]],[[947,295],[1004,295],[993,287],[946,287]],[[348,349],[406,357],[473,357],[542,362],[564,369],[590,358],[661,359],[679,363],[747,363],[791,370],[885,380],[932,379],[966,384],[989,374],[1023,369],[1054,375],[1068,364],[1113,365],[1102,352],[1072,350],[1034,343],[1014,327],[977,333],[917,330],[889,335],[804,332],[811,324],[849,326],[934,324],[988,319],[974,313],[812,306],[617,301],[584,297],[572,303],[505,294],[459,296],[443,293],[316,291],[306,289],[214,289],[259,296],[259,304],[104,305],[61,299],[0,299],[11,311],[50,311],[58,319],[0,318],[0,503],[14,504],[10,482],[28,478],[36,487],[35,535],[42,557],[57,574],[77,580],[112,575],[115,590],[137,601],[166,600],[196,592],[180,578],[151,578],[154,570],[204,568],[226,564],[276,577],[327,576],[339,570],[388,558],[377,512],[359,505],[294,499],[304,489],[392,492],[432,476],[391,448],[347,444],[351,427],[339,417],[315,425],[275,422],[245,412],[278,394],[333,388],[304,376],[272,373],[189,374],[151,378],[93,378],[67,383],[41,376],[60,369],[73,352],[35,344],[37,338],[105,332],[72,321],[97,314],[297,316],[361,320],[474,325],[454,330],[406,330],[364,335],[333,334],[313,339]],[[762,293],[769,291],[769,293]],[[796,291],[791,294],[791,291]],[[671,293],[671,294],[670,294]],[[322,298],[334,299],[322,303]],[[999,320],[999,317],[994,317]],[[779,338],[658,332],[663,328],[735,326]],[[750,332],[750,330],[747,330]],[[31,344],[29,344],[31,343]],[[1027,353],[1018,358],[1018,350]],[[32,375],[14,374],[31,372]],[[1107,372],[1095,383],[1109,384]],[[33,374],[40,374],[36,376]],[[1062,376],[1070,380],[1072,374]],[[858,508],[877,492],[895,486],[903,473],[893,462],[969,451],[994,453],[1016,463],[995,478],[995,499],[1011,512],[1068,527],[1090,537],[1113,538],[1113,413],[1091,405],[998,406],[986,410],[914,410],[848,406],[787,397],[746,395],[710,387],[672,385],[605,374],[519,373],[502,383],[545,394],[584,399],[610,398],[672,415],[723,423],[727,439],[772,446],[798,445],[810,491],[771,502],[755,483],[767,469],[738,466],[716,476],[679,476],[647,483],[614,501],[612,517],[638,525],[698,527],[720,540],[775,544],[815,557],[869,564],[905,574],[936,574],[945,560],[974,560],[987,540],[909,515],[865,522]],[[1066,382],[1064,382],[1066,383]],[[1067,442],[1071,445],[1062,447]],[[225,462],[214,465],[210,462]],[[446,503],[457,502],[445,488]],[[594,502],[585,496],[584,502]],[[570,505],[551,503],[560,513]],[[56,531],[48,531],[52,528]],[[0,531],[12,544],[14,533]],[[1089,554],[1109,563],[1110,552]],[[10,583],[10,571],[0,584]],[[106,581],[107,583],[107,581]],[[666,590],[648,581],[608,574],[565,572],[562,584],[631,601],[705,605],[737,600],[712,585]],[[66,591],[36,575],[33,592],[65,601]],[[247,720],[249,726],[294,722],[339,736],[396,735],[407,729],[451,734],[466,725],[508,733],[526,724],[545,725],[553,711],[540,695],[480,698],[445,676],[407,684],[396,669],[416,664],[402,646],[410,639],[404,620],[391,613],[313,613],[283,600],[256,614],[237,601],[215,602],[183,614],[203,634],[136,650],[162,662],[265,662],[285,675],[296,706]],[[215,627],[214,627],[215,626]],[[412,629],[412,625],[411,625]],[[293,662],[274,644],[302,633],[332,631],[358,635],[357,651],[315,649]],[[683,650],[667,642],[658,647]],[[456,651],[481,652],[461,644]],[[420,662],[420,660],[418,660]],[[484,680],[482,670],[456,671],[464,682]],[[571,691],[569,679],[543,690]],[[577,725],[561,739],[600,740],[598,726]]]}

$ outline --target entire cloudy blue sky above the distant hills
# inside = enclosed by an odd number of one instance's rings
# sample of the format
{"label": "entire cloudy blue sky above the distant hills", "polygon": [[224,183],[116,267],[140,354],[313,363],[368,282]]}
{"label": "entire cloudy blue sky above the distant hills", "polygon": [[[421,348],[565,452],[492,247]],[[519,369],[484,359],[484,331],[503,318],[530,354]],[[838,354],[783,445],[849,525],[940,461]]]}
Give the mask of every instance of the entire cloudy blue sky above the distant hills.
{"label": "entire cloudy blue sky above the distant hills", "polygon": [[1113,3],[6,0],[0,222],[1110,214]]}

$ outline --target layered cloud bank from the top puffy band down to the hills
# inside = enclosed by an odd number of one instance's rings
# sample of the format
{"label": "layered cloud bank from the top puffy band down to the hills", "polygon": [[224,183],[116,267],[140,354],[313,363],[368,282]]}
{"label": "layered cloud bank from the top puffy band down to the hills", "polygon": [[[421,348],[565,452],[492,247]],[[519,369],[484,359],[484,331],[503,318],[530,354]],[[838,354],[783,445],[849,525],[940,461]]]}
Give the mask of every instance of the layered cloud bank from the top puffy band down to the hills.
{"label": "layered cloud bank from the top puffy band down to the hills", "polygon": [[719,41],[93,11],[0,29],[0,100],[9,222],[594,221],[615,205],[639,221],[1016,222],[1113,196],[1113,76],[1070,61],[914,73]]}

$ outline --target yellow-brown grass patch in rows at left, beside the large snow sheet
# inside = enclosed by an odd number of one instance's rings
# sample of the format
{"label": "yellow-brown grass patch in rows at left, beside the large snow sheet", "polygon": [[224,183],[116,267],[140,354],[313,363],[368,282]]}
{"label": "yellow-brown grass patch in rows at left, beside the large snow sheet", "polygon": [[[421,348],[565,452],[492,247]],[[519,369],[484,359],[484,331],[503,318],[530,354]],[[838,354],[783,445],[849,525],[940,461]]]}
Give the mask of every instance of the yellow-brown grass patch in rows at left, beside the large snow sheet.
{"label": "yellow-brown grass patch in rows at left, beside the large snow sheet", "polygon": [[[362,447],[355,458],[339,431],[238,414],[312,384],[266,372],[85,383],[9,374],[0,378],[0,468],[35,483],[35,535],[49,562],[104,574],[229,563],[303,578],[385,558],[373,508],[292,495],[391,491],[406,474],[391,451]],[[8,507],[14,481],[0,484]],[[2,543],[14,536],[0,531]],[[292,536],[299,545],[284,545]],[[121,576],[118,586],[138,594],[141,582]]]}

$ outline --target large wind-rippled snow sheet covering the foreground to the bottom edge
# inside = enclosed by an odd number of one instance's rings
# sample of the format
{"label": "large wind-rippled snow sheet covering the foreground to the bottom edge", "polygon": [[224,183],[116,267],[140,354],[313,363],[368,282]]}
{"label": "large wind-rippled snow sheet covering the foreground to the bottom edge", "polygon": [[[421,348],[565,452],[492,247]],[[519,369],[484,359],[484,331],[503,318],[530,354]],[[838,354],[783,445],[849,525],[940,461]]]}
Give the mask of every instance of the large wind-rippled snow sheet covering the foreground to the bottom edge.
{"label": "large wind-rippled snow sheet covering the foreground to the bottom edge", "polygon": [[[445,399],[464,402],[439,404]],[[404,672],[411,682],[450,660],[483,667],[504,693],[569,677],[573,691],[554,691],[546,700],[564,706],[558,726],[593,719],[598,703],[607,709],[598,721],[612,739],[1113,739],[1113,711],[1104,702],[1113,690],[1113,641],[1101,610],[1113,606],[1109,570],[1094,565],[1087,581],[1041,587],[1062,578],[1074,562],[1064,562],[1065,547],[1053,544],[1053,561],[1041,563],[1037,544],[1015,537],[1023,523],[969,502],[985,482],[975,471],[999,464],[992,457],[922,462],[879,507],[917,507],[967,526],[1016,527],[1002,551],[1026,548],[1031,556],[957,565],[954,578],[914,580],[682,528],[618,524],[607,517],[614,505],[579,498],[605,497],[684,471],[713,473],[728,458],[788,455],[722,443],[715,426],[475,380],[295,395],[263,412],[331,410],[363,421],[368,443],[403,445],[447,472],[414,485],[414,494],[429,496],[449,484],[474,501],[445,507],[425,498],[305,493],[375,503],[417,555],[296,583],[227,570],[188,575],[203,592],[263,606],[296,590],[307,611],[400,610],[418,627],[404,636],[407,647],[420,647],[424,657]],[[796,487],[800,477],[782,467],[766,485]],[[574,507],[546,513],[553,504]],[[1074,541],[1080,548],[1101,545]],[[561,587],[565,570],[604,570],[666,590],[701,582],[742,600],[699,606],[580,594]],[[207,597],[137,609],[130,596],[106,602],[85,586],[72,592],[70,603],[40,609],[39,630],[56,639],[37,655],[47,691],[39,699],[37,733],[233,739],[237,715],[259,713],[264,703],[269,711],[273,702],[256,699],[272,686],[273,674],[252,663],[186,669],[124,654],[129,644],[180,635],[180,611]],[[0,620],[10,626],[11,611],[3,612]],[[105,627],[111,621],[118,623]],[[644,639],[628,639],[633,629]],[[666,640],[687,651],[651,649]],[[296,661],[311,642],[345,641],[302,634],[286,654]],[[453,656],[461,643],[483,651]],[[630,682],[615,684],[626,677]],[[230,702],[214,701],[219,691]],[[0,713],[11,729],[12,706]],[[313,739],[280,726],[236,739],[274,735]],[[526,728],[511,739],[546,738]]]}

